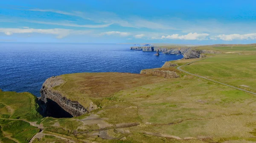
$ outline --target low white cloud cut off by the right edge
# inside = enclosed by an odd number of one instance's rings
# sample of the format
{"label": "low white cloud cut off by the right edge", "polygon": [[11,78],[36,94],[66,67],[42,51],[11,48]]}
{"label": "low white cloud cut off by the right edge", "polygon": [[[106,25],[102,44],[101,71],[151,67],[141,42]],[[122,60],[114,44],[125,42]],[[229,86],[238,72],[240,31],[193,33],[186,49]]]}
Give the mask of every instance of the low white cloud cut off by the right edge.
{"label": "low white cloud cut off by the right edge", "polygon": [[252,34],[230,34],[230,35],[218,35],[215,38],[219,38],[225,41],[232,41],[232,40],[245,40],[245,39],[256,39],[256,33]]}

